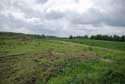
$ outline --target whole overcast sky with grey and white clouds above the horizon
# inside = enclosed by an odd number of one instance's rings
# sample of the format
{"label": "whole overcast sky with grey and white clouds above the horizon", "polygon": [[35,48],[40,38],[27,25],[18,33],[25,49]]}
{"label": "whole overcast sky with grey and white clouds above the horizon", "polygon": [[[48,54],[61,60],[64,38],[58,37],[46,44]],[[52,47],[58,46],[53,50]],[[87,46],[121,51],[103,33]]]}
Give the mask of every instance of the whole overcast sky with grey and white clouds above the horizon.
{"label": "whole overcast sky with grey and white clouds above the horizon", "polygon": [[1,0],[0,31],[125,35],[125,0]]}

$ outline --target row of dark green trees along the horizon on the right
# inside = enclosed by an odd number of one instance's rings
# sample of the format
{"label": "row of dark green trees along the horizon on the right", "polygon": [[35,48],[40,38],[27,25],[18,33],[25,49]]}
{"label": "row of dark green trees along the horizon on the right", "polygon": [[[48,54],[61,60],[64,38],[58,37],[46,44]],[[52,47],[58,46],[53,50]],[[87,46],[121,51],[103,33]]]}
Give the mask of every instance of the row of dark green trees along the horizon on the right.
{"label": "row of dark green trees along the horizon on the right", "polygon": [[84,36],[72,36],[72,35],[70,35],[69,36],[69,39],[73,39],[73,38],[125,42],[125,35],[122,35],[122,36],[118,36],[118,35],[109,36],[109,35],[98,34],[98,35],[91,35],[91,36],[88,36],[88,35],[84,35]]}

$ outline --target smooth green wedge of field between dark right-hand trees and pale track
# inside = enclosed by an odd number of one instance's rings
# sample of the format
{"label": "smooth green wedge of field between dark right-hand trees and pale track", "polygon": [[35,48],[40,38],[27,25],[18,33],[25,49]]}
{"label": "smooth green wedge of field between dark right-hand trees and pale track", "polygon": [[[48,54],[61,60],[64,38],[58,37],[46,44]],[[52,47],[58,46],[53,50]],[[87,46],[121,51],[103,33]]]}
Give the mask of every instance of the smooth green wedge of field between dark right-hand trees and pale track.
{"label": "smooth green wedge of field between dark right-hand trees and pale track", "polygon": [[125,51],[125,42],[91,40],[91,39],[64,39],[64,41]]}

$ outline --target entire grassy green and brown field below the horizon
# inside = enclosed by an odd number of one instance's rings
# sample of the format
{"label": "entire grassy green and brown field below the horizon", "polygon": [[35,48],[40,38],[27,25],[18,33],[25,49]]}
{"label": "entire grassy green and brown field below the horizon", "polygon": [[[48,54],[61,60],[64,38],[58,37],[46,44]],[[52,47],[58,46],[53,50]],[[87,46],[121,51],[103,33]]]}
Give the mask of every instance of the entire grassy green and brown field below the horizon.
{"label": "entire grassy green and brown field below the horizon", "polygon": [[0,84],[125,84],[124,51],[125,42],[0,35]]}

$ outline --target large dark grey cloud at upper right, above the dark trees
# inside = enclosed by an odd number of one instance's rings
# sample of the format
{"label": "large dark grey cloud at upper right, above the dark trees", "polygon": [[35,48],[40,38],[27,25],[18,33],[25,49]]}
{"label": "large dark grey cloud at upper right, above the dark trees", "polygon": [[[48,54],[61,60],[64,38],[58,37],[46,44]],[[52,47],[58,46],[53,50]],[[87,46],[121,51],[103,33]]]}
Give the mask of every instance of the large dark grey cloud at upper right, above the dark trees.
{"label": "large dark grey cloud at upper right, above the dark trees", "polygon": [[125,27],[125,12],[119,12],[119,10],[124,11],[125,9],[121,9],[120,7],[117,8],[118,11],[115,8],[112,8],[112,12],[109,14],[101,12],[96,8],[90,8],[86,13],[71,19],[71,21],[73,24],[106,24],[111,26]]}

